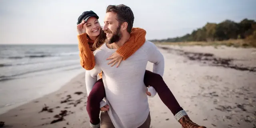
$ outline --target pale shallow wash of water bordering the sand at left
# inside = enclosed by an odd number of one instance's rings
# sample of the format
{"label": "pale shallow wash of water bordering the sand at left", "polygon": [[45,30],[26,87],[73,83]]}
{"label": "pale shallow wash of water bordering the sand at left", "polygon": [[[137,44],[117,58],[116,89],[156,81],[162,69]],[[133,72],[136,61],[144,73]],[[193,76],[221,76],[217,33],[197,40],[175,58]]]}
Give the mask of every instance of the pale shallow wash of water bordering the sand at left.
{"label": "pale shallow wash of water bordering the sand at left", "polygon": [[[30,77],[23,79],[0,82],[0,86],[2,87],[0,114],[22,104],[26,104],[36,98],[41,98],[47,94],[54,93],[81,72],[81,69],[48,72],[48,75],[34,77],[31,75]],[[59,79],[60,75],[61,79]]]}

